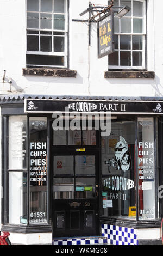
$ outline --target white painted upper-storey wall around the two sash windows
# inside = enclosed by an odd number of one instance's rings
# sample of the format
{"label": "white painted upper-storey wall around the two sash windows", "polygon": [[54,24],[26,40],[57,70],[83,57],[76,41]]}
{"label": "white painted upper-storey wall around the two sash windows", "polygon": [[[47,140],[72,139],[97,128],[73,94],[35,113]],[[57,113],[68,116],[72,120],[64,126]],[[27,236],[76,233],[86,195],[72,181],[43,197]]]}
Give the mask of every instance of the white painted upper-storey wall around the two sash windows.
{"label": "white painted upper-storey wall around the two sash windows", "polygon": [[[88,46],[87,23],[72,22],[72,19],[87,19],[88,14],[80,17],[79,13],[88,7],[88,2],[70,0],[70,69],[77,70],[77,78],[70,78],[22,76],[22,68],[26,68],[26,1],[0,0],[0,94],[163,95],[163,26],[160,26],[163,2],[147,0],[148,70],[155,71],[155,80],[104,78],[108,57],[97,58],[97,24],[91,25],[91,46]],[[108,1],[100,3],[107,5]],[[2,83],[4,69],[7,79],[12,78],[11,87],[8,82]]]}

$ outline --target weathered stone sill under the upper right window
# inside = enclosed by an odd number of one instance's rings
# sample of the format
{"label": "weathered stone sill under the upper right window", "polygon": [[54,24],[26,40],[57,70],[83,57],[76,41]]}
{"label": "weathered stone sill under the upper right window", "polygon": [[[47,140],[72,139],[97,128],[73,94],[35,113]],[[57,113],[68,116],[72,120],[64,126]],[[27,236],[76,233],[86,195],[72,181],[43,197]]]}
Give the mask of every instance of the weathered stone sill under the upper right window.
{"label": "weathered stone sill under the upper right window", "polygon": [[153,71],[104,71],[104,78],[155,78]]}

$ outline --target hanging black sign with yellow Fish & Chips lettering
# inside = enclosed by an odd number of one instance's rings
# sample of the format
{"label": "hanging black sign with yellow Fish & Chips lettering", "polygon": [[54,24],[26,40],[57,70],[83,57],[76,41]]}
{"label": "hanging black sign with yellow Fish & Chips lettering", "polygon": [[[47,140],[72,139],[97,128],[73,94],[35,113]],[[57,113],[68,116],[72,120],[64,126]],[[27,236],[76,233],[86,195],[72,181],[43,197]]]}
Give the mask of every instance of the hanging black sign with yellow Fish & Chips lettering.
{"label": "hanging black sign with yellow Fish & Chips lettering", "polygon": [[98,58],[114,52],[114,11],[97,21]]}

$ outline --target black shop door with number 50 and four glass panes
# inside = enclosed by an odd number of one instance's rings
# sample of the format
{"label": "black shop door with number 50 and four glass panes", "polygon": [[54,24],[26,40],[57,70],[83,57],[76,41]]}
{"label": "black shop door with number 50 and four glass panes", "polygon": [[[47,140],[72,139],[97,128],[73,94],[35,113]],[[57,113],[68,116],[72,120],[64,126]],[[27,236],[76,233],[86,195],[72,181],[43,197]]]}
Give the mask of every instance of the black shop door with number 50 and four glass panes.
{"label": "black shop door with number 50 and four glass panes", "polygon": [[98,235],[98,154],[53,154],[53,237]]}

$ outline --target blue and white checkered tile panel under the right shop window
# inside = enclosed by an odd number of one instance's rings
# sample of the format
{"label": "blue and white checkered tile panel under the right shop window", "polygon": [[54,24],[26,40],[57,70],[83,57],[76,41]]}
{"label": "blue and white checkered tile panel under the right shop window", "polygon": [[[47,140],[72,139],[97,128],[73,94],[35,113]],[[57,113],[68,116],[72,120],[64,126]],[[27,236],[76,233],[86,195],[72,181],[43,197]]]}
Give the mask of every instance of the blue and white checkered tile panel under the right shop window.
{"label": "blue and white checkered tile panel under the right shop window", "polygon": [[138,245],[136,229],[102,224],[102,236],[110,245]]}

